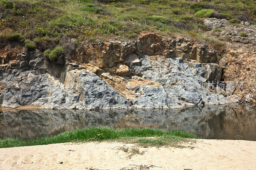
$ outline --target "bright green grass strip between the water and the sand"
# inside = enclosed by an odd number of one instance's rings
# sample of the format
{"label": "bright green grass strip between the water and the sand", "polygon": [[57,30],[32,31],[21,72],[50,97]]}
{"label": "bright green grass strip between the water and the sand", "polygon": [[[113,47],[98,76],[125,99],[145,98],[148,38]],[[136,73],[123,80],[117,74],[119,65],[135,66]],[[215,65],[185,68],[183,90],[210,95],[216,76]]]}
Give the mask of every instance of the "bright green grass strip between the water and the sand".
{"label": "bright green grass strip between the water and the sand", "polygon": [[113,129],[90,127],[81,130],[64,132],[56,136],[24,140],[20,138],[5,138],[0,140],[0,148],[57,144],[76,141],[104,141],[131,137],[165,137],[169,140],[182,138],[198,138],[196,135],[179,130],[164,131],[160,129]]}

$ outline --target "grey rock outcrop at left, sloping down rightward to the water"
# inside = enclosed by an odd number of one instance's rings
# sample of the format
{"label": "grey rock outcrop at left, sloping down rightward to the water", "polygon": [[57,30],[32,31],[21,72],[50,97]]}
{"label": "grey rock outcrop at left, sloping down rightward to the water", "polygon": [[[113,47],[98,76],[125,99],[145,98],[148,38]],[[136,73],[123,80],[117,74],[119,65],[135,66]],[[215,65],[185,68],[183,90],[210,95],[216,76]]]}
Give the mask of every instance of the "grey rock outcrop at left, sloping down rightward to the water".
{"label": "grey rock outcrop at left, sloping down rightward to the water", "polygon": [[64,69],[51,68],[43,55],[21,55],[24,61],[0,66],[3,84],[0,97],[4,107],[29,104],[43,108],[130,107],[115,89],[78,64],[67,63]]}

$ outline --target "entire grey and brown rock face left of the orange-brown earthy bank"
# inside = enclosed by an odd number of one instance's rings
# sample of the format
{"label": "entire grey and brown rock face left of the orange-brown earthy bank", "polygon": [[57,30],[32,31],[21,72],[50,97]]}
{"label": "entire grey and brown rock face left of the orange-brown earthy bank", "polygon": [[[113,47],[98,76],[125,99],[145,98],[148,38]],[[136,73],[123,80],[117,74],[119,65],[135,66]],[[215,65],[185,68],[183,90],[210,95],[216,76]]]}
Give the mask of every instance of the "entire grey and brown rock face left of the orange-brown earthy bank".
{"label": "entire grey and brown rock face left of the orange-brown earthy bank", "polygon": [[1,58],[5,107],[179,108],[239,100],[215,85],[222,75],[215,50],[186,38],[147,33],[137,41],[89,42],[62,67],[37,53]]}

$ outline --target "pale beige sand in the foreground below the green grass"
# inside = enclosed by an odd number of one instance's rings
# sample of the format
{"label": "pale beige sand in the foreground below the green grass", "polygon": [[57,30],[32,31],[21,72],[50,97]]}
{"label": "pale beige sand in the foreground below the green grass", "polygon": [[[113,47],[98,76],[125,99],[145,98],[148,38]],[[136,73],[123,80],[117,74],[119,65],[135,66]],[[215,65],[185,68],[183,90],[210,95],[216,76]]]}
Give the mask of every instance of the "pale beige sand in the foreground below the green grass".
{"label": "pale beige sand in the foreground below the green grass", "polygon": [[[118,149],[129,148],[128,153]],[[49,144],[0,149],[0,169],[256,169],[256,141],[197,140],[190,148],[139,148],[116,142]],[[128,168],[126,168],[128,169]]]}

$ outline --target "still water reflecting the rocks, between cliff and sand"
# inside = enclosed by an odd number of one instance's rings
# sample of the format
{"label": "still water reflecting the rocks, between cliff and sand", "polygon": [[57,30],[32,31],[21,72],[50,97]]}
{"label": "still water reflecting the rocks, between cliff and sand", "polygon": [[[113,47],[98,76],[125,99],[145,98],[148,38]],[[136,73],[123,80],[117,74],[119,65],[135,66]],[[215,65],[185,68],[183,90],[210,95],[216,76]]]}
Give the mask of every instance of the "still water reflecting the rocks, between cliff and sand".
{"label": "still water reflecting the rocks, between cliff and sand", "polygon": [[183,109],[8,110],[0,115],[0,138],[56,135],[89,126],[180,129],[205,139],[256,141],[256,107],[249,104]]}

